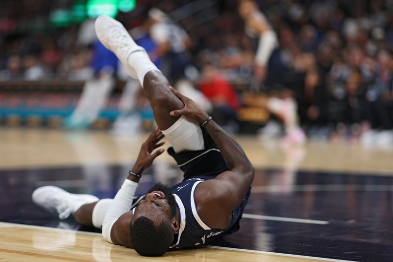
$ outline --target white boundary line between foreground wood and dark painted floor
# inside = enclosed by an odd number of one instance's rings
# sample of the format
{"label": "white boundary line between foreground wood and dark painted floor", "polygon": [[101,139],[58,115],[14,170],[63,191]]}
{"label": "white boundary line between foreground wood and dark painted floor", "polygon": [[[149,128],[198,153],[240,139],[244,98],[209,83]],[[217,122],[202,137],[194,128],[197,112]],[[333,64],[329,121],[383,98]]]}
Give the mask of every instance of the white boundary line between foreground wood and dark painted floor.
{"label": "white boundary line between foreground wood and dark painted floor", "polygon": [[[0,230],[1,230],[1,228],[3,228],[2,225],[9,225],[9,226],[21,227],[21,228],[40,229],[40,230],[65,231],[65,232],[72,232],[72,233],[81,233],[81,234],[100,235],[101,236],[101,233],[96,233],[96,232],[77,231],[77,230],[73,230],[73,229],[50,228],[50,227],[44,227],[44,226],[17,224],[17,223],[1,222],[1,221],[0,221]],[[211,246],[211,245],[206,245],[206,247],[207,248],[230,250],[230,251],[238,251],[238,252],[248,252],[248,253],[257,253],[257,254],[264,254],[264,255],[274,255],[274,256],[283,256],[283,257],[291,257],[291,258],[309,259],[309,260],[322,260],[322,261],[331,261],[331,262],[353,262],[353,261],[349,261],[349,260],[337,260],[337,259],[328,259],[328,258],[320,258],[320,257],[310,257],[310,256],[303,256],[303,255],[285,254],[285,253],[260,251],[260,250],[253,250],[253,249],[220,247],[220,246]]]}

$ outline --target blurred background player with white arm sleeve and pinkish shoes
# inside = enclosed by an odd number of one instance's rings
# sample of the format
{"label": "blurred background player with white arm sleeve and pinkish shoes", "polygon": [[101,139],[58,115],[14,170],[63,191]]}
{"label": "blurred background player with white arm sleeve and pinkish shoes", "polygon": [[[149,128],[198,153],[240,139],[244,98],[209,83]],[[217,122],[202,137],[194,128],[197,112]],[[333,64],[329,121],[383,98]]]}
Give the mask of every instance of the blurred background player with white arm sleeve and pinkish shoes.
{"label": "blurred background player with white arm sleeve and pinkish shoes", "polygon": [[[245,22],[245,32],[253,39],[255,48],[254,79],[252,91],[261,87],[282,84],[284,66],[279,54],[277,34],[258,9],[254,0],[240,0],[239,14]],[[282,121],[286,137],[290,143],[303,143],[306,136],[299,126],[296,101],[289,91],[278,93],[276,97],[255,100],[258,106],[265,106]]]}

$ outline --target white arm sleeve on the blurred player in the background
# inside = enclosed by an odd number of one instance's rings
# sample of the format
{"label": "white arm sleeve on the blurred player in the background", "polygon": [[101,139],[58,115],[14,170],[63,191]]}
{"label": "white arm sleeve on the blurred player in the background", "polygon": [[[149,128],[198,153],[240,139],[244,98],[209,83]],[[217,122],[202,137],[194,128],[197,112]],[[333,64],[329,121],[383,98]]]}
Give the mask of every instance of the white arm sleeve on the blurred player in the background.
{"label": "white arm sleeve on the blurred player in the background", "polygon": [[255,54],[255,63],[266,65],[273,50],[278,46],[277,35],[274,31],[263,32],[259,37],[258,49]]}

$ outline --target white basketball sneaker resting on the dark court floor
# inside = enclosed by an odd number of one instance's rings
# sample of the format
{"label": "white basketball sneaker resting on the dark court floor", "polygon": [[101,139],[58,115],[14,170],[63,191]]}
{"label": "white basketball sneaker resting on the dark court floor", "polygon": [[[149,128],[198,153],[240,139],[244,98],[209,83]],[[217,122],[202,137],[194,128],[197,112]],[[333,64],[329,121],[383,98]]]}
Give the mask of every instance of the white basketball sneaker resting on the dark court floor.
{"label": "white basketball sneaker resting on the dark court floor", "polygon": [[34,190],[33,202],[47,210],[56,211],[60,219],[66,219],[83,204],[99,201],[99,198],[85,194],[71,194],[56,186],[43,186]]}

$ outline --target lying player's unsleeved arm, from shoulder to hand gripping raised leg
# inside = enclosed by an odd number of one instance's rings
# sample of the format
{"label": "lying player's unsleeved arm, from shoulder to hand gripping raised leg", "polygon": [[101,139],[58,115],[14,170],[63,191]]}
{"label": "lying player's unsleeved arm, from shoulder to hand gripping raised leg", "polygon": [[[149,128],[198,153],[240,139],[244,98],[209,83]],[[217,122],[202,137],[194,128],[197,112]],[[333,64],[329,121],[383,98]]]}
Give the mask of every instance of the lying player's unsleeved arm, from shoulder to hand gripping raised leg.
{"label": "lying player's unsleeved arm, from shoulder to hand gripping raised leg", "polygon": [[[171,116],[185,116],[198,124],[208,118],[208,115],[193,100],[173,88],[171,90],[185,105],[181,110],[172,111]],[[221,150],[229,171],[197,187],[195,191],[197,209],[210,227],[224,229],[231,221],[232,210],[242,203],[250,188],[254,169],[241,146],[217,123],[210,120],[204,127]]]}

